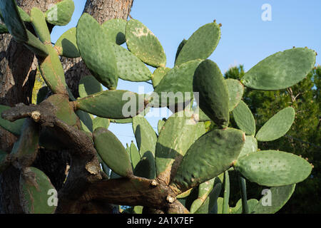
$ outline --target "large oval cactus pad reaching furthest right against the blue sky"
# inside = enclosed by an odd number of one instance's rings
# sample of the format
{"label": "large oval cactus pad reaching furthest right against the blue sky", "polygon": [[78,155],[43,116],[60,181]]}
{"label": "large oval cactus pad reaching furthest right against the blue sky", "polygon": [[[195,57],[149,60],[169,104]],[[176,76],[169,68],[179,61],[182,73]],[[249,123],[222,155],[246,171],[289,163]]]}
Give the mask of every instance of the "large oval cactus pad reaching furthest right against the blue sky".
{"label": "large oval cactus pad reaching furthest right against the blue sky", "polygon": [[245,73],[241,82],[256,90],[280,90],[295,85],[315,66],[316,53],[308,48],[277,52]]}

